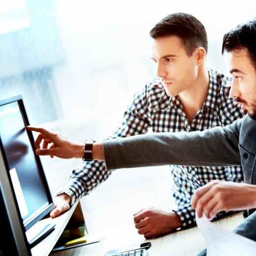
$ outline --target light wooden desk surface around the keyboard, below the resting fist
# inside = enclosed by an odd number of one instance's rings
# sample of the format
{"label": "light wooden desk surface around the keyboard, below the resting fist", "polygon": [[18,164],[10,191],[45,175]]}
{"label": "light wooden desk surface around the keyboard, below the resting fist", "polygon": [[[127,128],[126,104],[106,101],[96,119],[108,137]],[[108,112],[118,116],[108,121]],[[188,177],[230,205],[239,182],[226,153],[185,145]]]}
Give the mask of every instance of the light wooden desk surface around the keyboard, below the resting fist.
{"label": "light wooden desk surface around the keyboard, below the resting fist", "polygon": [[[244,220],[242,213],[225,217],[215,224],[231,231]],[[52,253],[51,256],[103,256],[108,250],[139,244],[145,241],[152,243],[149,256],[194,256],[205,248],[204,239],[197,227],[179,230],[155,239],[139,235],[133,226],[105,232],[105,239],[99,243],[89,244],[74,249]]]}

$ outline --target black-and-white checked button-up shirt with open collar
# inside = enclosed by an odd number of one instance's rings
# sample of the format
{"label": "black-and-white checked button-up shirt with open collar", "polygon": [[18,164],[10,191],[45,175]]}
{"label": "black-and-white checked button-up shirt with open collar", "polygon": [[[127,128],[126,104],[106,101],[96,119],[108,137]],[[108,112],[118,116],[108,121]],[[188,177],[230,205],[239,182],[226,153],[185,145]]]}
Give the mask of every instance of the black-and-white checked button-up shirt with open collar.
{"label": "black-and-white checked button-up shirt with open collar", "polygon": [[[148,128],[152,128],[154,132],[204,130],[226,126],[242,118],[244,112],[236,100],[229,97],[231,78],[212,69],[209,69],[209,77],[208,96],[191,124],[186,118],[179,97],[167,96],[160,80],[154,79],[134,95],[132,103],[124,113],[121,125],[109,138],[143,134]],[[195,223],[191,197],[197,188],[215,179],[243,181],[241,166],[171,165],[170,168],[174,181],[172,192],[178,206],[174,211],[179,215],[184,227]],[[73,170],[65,187],[71,189],[78,200],[94,190],[110,174],[111,171],[105,169],[102,161],[82,162]]]}

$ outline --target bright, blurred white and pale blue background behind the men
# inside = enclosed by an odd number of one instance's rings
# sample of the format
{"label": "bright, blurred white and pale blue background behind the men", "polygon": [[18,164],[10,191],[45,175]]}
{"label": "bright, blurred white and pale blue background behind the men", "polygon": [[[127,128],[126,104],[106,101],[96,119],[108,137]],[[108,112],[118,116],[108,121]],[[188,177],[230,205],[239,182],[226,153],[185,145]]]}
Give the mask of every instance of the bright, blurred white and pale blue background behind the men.
{"label": "bright, blurred white and pale blue background behind the men", "polygon": [[[227,74],[224,32],[255,9],[252,0],[0,0],[0,99],[22,94],[34,126],[104,139],[155,77],[149,31],[157,22],[194,15],[208,33],[208,65]],[[80,162],[41,160],[52,191]],[[82,200],[89,232],[131,224],[141,208],[175,208],[171,182],[167,166],[114,171]]]}

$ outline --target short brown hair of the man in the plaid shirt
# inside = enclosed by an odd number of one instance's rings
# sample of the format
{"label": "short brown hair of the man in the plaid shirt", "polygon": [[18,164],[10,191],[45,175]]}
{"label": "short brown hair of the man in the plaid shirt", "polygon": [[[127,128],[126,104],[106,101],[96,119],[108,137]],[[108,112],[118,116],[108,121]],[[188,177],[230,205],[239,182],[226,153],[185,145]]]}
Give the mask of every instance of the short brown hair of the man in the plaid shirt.
{"label": "short brown hair of the man in the plaid shirt", "polygon": [[182,12],[169,14],[150,31],[150,36],[154,39],[169,35],[176,35],[183,41],[189,56],[196,47],[203,47],[206,52],[208,50],[205,28],[191,14]]}

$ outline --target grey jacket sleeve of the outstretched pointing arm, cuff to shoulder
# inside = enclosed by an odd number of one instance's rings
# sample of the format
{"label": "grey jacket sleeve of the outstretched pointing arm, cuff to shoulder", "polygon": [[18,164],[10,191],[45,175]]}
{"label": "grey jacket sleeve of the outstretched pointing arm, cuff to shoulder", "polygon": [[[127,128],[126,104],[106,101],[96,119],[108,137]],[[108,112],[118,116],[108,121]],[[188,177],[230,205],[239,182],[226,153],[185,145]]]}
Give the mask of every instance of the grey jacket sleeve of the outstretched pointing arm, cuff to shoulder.
{"label": "grey jacket sleeve of the outstretched pointing arm, cuff to shoulder", "polygon": [[230,128],[154,133],[103,141],[106,168],[238,165],[239,134]]}

